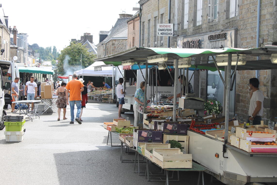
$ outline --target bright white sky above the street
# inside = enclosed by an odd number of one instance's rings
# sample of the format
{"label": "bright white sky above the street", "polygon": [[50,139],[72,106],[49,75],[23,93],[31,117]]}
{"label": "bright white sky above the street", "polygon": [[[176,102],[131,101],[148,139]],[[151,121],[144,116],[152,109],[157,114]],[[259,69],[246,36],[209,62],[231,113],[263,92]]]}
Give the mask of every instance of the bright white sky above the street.
{"label": "bright white sky above the street", "polygon": [[18,33],[27,33],[30,45],[56,46],[59,51],[84,33],[91,33],[94,44],[99,43],[99,31],[109,31],[120,13],[135,14],[133,7],[139,7],[138,1],[4,0],[1,4],[9,16],[9,26],[16,26]]}

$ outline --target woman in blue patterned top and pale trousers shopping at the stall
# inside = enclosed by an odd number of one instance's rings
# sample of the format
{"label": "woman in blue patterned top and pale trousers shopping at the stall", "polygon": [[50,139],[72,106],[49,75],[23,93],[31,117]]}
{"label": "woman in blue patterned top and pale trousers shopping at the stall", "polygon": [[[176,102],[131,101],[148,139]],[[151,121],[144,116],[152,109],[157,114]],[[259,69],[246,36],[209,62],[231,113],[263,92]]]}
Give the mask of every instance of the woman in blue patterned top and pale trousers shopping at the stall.
{"label": "woman in blue patterned top and pale trousers shopping at the stall", "polygon": [[[137,89],[137,91],[135,92],[135,103],[134,103],[134,107],[133,107],[134,116],[135,116],[134,126],[137,126],[138,121],[139,121],[139,123],[142,123],[143,115],[142,114],[138,115],[137,108],[140,105],[144,104],[144,89],[145,89],[145,81],[142,81],[140,83],[140,88]],[[147,100],[147,103],[149,103],[149,102],[150,102],[150,100]],[[138,119],[138,116],[139,116],[139,119]]]}

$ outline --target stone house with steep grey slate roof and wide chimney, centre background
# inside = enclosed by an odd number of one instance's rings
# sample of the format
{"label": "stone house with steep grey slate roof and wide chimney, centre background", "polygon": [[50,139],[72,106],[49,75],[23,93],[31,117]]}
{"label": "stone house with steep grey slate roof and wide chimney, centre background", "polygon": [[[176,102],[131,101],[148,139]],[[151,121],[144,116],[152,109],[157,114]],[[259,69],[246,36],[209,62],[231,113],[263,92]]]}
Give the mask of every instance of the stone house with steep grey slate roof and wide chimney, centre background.
{"label": "stone house with steep grey slate roof and wide chimney, centre background", "polygon": [[[98,58],[127,49],[127,20],[132,16],[131,14],[119,14],[119,19],[117,19],[116,24],[109,31],[107,37],[102,41],[99,40],[99,43],[96,45],[98,48]],[[103,33],[103,31],[101,32]],[[99,39],[103,38],[100,35],[103,36],[103,34],[99,32]]]}

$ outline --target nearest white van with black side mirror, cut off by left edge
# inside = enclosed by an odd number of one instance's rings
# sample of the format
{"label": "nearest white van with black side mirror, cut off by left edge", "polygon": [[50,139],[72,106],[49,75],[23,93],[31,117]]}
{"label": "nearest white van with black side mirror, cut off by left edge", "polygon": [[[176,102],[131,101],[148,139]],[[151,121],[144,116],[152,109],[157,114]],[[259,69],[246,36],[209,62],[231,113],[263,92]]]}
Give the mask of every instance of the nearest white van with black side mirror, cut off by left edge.
{"label": "nearest white van with black side mirror, cut off by left edge", "polygon": [[11,90],[11,82],[5,82],[3,86],[3,77],[2,71],[0,73],[0,112],[2,112],[1,121],[0,121],[0,130],[3,130],[4,125],[4,116],[7,115],[6,111],[4,110],[5,100],[4,100],[4,90],[9,91]]}

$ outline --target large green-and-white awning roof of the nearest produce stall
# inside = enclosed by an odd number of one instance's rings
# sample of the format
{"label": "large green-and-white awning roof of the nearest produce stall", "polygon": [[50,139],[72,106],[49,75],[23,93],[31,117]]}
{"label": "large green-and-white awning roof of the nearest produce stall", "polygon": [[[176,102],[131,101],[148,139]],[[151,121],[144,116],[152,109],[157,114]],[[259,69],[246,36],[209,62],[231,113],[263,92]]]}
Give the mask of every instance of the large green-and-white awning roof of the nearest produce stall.
{"label": "large green-and-white awning roof of the nearest produce stall", "polygon": [[[135,62],[146,62],[147,57],[157,54],[167,54],[168,63],[172,65],[176,58],[191,58],[192,64],[202,69],[215,67],[211,56],[232,53],[245,54],[247,62],[245,65],[237,66],[237,70],[257,70],[257,69],[277,69],[276,64],[272,64],[270,57],[272,53],[277,53],[277,46],[266,46],[264,48],[222,48],[222,49],[187,49],[187,48],[137,48],[133,47],[125,51],[115,53],[95,61],[103,61],[105,64],[119,66],[121,61],[134,60]],[[201,69],[201,68],[200,68]],[[235,66],[232,66],[235,69]]]}

